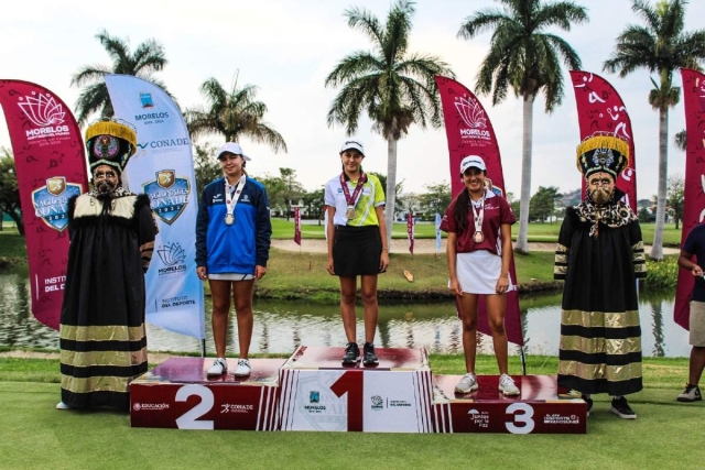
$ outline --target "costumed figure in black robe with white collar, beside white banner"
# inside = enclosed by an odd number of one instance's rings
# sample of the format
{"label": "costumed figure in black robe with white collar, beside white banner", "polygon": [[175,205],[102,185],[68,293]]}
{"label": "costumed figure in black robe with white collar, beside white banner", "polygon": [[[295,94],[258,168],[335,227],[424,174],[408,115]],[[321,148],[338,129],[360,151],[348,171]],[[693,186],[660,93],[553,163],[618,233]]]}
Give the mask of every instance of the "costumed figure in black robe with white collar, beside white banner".
{"label": "costumed figure in black robe with white collar, beside white banner", "polygon": [[144,273],[156,226],[147,195],[121,187],[137,149],[129,124],[86,131],[93,189],[68,201],[68,266],[61,314],[59,409],[129,409],[129,382],[147,372]]}

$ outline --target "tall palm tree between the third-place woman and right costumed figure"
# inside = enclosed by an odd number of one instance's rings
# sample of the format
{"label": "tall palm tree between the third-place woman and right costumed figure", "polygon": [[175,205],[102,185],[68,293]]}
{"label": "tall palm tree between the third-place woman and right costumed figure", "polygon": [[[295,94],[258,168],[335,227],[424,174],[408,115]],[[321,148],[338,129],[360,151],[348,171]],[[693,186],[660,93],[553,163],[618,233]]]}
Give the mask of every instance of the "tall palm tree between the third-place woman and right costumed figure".
{"label": "tall palm tree between the third-place woman and right costumed figure", "polygon": [[550,26],[571,31],[573,23],[588,21],[584,7],[570,1],[499,0],[503,10],[485,9],[465,19],[458,36],[466,40],[494,30],[490,48],[477,74],[475,91],[492,95],[492,106],[507,97],[511,87],[523,99],[521,206],[519,237],[514,250],[529,252],[529,205],[531,200],[531,145],[533,101],[540,91],[546,97],[545,112],[563,100],[563,63],[581,68],[577,53],[562,37],[544,32]]}

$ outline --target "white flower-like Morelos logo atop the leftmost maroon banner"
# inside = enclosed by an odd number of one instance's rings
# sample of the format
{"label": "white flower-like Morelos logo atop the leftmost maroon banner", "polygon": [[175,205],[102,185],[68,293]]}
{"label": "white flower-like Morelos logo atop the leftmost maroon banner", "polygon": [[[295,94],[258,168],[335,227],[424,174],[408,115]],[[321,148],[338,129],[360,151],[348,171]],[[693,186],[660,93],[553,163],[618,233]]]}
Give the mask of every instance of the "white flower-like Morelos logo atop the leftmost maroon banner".
{"label": "white flower-like Morelos logo atop the leftmost maroon banner", "polygon": [[52,95],[32,91],[31,96],[20,97],[18,106],[30,122],[36,125],[35,129],[24,131],[28,141],[69,135],[68,125],[64,124],[66,112]]}

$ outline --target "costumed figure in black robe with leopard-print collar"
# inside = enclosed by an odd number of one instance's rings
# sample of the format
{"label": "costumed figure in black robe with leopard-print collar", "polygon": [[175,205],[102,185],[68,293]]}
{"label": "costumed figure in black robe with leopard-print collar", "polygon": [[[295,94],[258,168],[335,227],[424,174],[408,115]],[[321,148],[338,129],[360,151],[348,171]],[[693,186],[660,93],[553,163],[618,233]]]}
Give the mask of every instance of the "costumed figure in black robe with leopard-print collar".
{"label": "costumed figure in black robe with leopard-print collar", "polygon": [[642,389],[637,278],[646,277],[639,219],[615,186],[629,163],[629,144],[596,133],[577,147],[585,200],[566,208],[554,277],[565,280],[561,311],[558,386],[612,397],[610,412],[633,419],[625,395]]}

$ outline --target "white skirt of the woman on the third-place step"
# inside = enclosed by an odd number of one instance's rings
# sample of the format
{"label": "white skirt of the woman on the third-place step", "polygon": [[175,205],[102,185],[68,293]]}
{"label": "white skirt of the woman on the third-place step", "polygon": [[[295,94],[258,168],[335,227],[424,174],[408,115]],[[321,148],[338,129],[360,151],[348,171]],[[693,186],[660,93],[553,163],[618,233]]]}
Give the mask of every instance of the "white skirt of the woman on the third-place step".
{"label": "white skirt of the woman on the third-place step", "polygon": [[[468,294],[497,294],[497,281],[502,272],[502,258],[487,250],[457,253],[456,272],[460,289]],[[449,282],[448,282],[449,285]],[[507,292],[514,291],[511,275]]]}

